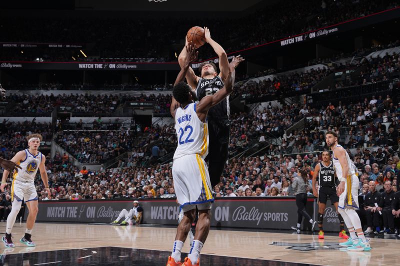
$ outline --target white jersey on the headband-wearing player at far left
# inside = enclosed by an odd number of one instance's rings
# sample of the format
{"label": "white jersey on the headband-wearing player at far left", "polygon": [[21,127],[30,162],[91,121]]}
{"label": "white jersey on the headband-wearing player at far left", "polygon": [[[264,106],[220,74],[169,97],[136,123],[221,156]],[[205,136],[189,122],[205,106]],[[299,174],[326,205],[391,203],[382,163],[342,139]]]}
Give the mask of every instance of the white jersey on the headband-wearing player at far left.
{"label": "white jersey on the headband-wearing player at far left", "polygon": [[17,181],[33,182],[37,169],[39,169],[39,164],[41,163],[42,154],[41,152],[37,152],[37,155],[34,156],[28,149],[25,150],[25,154],[25,160],[17,163],[22,169],[18,169],[18,172],[14,171],[12,177]]}

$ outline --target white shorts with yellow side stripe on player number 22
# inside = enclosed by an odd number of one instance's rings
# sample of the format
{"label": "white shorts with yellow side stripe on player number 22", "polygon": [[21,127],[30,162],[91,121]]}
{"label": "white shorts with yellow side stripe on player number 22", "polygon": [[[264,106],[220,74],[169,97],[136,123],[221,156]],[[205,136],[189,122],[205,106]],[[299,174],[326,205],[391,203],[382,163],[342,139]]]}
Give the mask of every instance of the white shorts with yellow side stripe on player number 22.
{"label": "white shorts with yellow side stripe on player number 22", "polygon": [[198,154],[185,155],[173,161],[173,186],[176,199],[183,212],[197,206],[198,210],[209,210],[214,201],[210,189],[208,169]]}

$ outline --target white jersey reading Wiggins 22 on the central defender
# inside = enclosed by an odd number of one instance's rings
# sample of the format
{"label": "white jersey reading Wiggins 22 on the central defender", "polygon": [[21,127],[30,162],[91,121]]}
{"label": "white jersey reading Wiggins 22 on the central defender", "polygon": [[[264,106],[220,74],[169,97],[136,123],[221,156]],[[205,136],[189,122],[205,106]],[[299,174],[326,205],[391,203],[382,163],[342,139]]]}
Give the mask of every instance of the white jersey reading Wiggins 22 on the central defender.
{"label": "white jersey reading Wiggins 22 on the central defender", "polygon": [[196,114],[196,104],[190,103],[175,112],[175,130],[178,139],[173,160],[184,155],[198,154],[202,159],[208,154],[208,126]]}

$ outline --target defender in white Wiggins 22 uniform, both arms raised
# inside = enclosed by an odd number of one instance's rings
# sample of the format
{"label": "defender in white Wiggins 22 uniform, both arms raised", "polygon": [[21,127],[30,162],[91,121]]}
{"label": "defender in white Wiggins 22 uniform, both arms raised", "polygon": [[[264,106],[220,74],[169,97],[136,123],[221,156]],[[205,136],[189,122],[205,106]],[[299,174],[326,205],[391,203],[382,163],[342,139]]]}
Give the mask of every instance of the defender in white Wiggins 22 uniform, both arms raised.
{"label": "defender in white Wiggins 22 uniform, both arms raised", "polygon": [[[208,154],[208,110],[224,100],[233,91],[234,67],[229,67],[229,74],[224,86],[215,94],[205,96],[194,102],[195,93],[184,82],[189,63],[195,60],[196,52],[192,43],[186,46],[187,54],[172,91],[170,112],[175,120],[177,148],[173,156],[172,176],[175,194],[183,219],[176,230],[172,254],[167,266],[198,266],[200,250],[207,238],[210,227],[210,209],[213,202],[208,169],[204,158]],[[183,264],[180,251],[195,218],[198,209],[198,221],[190,252]]]}

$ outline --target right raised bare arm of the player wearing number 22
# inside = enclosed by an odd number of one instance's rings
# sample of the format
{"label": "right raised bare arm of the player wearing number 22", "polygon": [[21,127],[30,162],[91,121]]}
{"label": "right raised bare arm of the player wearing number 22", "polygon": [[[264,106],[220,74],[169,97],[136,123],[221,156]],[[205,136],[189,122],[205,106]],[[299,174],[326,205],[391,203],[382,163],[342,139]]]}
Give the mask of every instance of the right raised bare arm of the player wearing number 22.
{"label": "right raised bare arm of the player wearing number 22", "polygon": [[229,70],[230,72],[228,72],[224,86],[220,90],[218,90],[215,94],[205,96],[204,98],[202,98],[201,101],[196,105],[196,112],[198,118],[201,121],[205,120],[207,112],[212,106],[217,105],[223,99],[225,99],[230,93],[232,93],[235,70],[233,66],[230,66]]}

